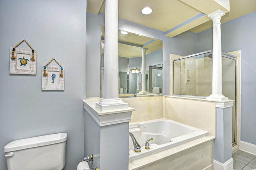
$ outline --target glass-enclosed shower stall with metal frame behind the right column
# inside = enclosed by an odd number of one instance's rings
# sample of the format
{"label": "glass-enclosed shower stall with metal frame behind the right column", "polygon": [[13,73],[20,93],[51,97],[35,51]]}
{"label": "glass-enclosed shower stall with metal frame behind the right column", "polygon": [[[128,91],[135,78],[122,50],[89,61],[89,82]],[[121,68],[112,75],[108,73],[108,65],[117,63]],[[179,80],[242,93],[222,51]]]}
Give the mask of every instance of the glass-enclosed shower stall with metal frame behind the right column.
{"label": "glass-enclosed shower stall with metal frame behind the right column", "polygon": [[[205,98],[212,94],[212,50],[173,60],[173,96]],[[235,100],[232,107],[232,144],[236,144],[236,56],[222,52],[222,93]]]}

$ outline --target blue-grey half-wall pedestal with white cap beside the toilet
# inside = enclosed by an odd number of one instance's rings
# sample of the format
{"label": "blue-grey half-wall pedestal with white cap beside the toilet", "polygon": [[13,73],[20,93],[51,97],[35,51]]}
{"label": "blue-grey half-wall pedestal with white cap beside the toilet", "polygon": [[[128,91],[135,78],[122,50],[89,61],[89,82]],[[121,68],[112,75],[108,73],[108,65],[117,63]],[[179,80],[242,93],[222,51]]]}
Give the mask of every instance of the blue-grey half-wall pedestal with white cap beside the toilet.
{"label": "blue-grey half-wall pedestal with white cap beside the toilet", "polygon": [[134,108],[102,111],[100,98],[87,98],[85,109],[85,154],[94,154],[92,167],[105,170],[128,169],[129,121]]}

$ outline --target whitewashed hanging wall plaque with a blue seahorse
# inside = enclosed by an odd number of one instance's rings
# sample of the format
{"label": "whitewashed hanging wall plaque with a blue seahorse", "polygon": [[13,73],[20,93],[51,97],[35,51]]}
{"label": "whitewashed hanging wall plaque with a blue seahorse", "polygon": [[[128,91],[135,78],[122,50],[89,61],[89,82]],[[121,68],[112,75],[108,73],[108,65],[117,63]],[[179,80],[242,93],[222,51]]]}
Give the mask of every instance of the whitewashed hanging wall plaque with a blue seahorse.
{"label": "whitewashed hanging wall plaque with a blue seahorse", "polygon": [[[59,67],[48,66],[53,60]],[[42,90],[64,90],[64,67],[55,58],[42,66]]]}

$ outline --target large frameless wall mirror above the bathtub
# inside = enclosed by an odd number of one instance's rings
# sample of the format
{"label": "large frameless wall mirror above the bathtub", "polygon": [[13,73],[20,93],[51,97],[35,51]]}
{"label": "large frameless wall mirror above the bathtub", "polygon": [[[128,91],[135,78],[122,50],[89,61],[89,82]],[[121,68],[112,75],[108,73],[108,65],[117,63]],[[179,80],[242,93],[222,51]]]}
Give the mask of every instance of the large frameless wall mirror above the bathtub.
{"label": "large frameless wall mirror above the bathtub", "polygon": [[[104,97],[104,31],[101,26],[101,87]],[[119,97],[162,96],[163,42],[131,32],[118,32]],[[142,48],[146,48],[146,94],[142,90]]]}

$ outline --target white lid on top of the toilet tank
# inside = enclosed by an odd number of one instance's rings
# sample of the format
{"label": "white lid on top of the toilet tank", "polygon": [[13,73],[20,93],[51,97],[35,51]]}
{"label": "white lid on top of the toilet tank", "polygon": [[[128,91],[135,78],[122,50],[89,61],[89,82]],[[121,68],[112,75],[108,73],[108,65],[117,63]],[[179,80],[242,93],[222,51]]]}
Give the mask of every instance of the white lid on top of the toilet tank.
{"label": "white lid on top of the toilet tank", "polygon": [[34,148],[38,146],[45,146],[50,144],[56,144],[67,140],[66,133],[49,134],[44,136],[37,136],[33,138],[26,138],[20,140],[14,140],[4,146],[4,152],[12,152],[15,150],[22,150],[27,148]]}

